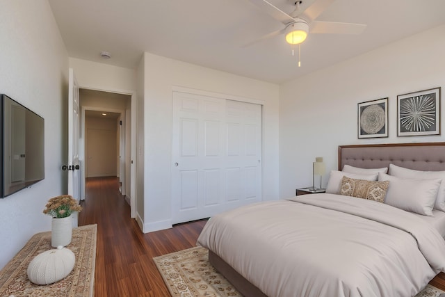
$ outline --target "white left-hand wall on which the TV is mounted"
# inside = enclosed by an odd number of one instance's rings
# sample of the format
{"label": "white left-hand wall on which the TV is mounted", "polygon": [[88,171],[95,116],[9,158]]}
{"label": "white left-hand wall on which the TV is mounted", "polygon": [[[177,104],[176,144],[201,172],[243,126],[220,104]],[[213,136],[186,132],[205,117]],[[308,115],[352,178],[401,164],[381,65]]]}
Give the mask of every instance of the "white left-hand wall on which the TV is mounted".
{"label": "white left-hand wall on which the TV is mounted", "polygon": [[0,93],[44,118],[44,180],[0,199],[0,268],[33,234],[51,229],[47,200],[65,193],[68,56],[47,0],[2,0]]}

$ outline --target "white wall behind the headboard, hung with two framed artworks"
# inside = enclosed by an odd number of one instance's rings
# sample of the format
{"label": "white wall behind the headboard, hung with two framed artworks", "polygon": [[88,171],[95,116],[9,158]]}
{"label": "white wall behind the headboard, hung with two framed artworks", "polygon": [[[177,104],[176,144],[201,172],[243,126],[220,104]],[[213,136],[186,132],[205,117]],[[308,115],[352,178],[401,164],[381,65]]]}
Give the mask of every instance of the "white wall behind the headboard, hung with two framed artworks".
{"label": "white wall behind the headboard, hung with two framed artworks", "polygon": [[[396,121],[397,95],[442,87],[444,96],[444,49],[445,26],[439,26],[282,84],[280,197],[312,186],[316,156],[324,157],[327,172],[337,170],[338,145],[444,141],[444,136],[397,137]],[[384,97],[389,97],[389,137],[358,139],[357,104]]]}

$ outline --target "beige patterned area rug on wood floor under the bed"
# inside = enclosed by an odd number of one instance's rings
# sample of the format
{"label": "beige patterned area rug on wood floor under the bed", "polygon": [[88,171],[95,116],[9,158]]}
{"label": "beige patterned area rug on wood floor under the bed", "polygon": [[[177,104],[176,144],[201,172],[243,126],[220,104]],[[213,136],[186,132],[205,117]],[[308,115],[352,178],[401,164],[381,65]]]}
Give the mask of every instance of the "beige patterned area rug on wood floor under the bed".
{"label": "beige patterned area rug on wood floor under the bed", "polygon": [[[209,264],[206,248],[189,248],[153,259],[172,297],[242,297]],[[428,284],[415,297],[438,297],[443,293]]]}

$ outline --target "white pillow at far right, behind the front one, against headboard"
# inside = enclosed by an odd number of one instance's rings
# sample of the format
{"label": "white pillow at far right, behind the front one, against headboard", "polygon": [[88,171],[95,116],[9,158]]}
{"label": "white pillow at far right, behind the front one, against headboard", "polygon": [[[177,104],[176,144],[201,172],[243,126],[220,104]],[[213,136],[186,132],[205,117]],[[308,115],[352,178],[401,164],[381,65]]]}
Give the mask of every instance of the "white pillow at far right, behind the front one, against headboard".
{"label": "white pillow at far right, behind the front one, against headboard", "polygon": [[401,178],[442,179],[434,208],[445,211],[445,171],[421,171],[389,164],[389,175]]}

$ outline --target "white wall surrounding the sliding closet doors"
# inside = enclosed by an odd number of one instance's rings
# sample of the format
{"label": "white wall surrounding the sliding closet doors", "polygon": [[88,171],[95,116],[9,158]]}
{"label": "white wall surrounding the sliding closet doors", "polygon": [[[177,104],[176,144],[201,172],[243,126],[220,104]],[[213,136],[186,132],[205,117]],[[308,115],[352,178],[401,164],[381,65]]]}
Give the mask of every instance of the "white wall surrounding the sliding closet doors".
{"label": "white wall surrounding the sliding closet doors", "polygon": [[264,102],[263,199],[278,198],[279,86],[145,53],[144,232],[171,226],[172,88]]}

